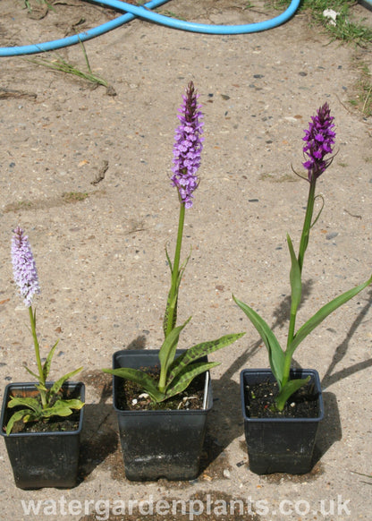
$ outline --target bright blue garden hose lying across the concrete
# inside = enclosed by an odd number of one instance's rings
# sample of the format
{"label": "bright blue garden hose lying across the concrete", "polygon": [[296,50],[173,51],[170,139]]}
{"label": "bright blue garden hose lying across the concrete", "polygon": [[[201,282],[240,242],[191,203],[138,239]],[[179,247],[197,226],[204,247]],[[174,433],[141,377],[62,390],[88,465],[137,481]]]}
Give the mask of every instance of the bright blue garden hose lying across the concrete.
{"label": "bright blue garden hose lying across the concrete", "polygon": [[169,0],[152,0],[148,4],[142,6],[126,4],[119,0],[89,0],[90,2],[97,4],[104,4],[112,9],[122,11],[123,15],[115,18],[112,21],[108,21],[96,28],[81,32],[73,36],[69,36],[62,39],[56,39],[39,44],[33,44],[30,46],[21,47],[0,47],[0,56],[21,56],[21,55],[33,55],[46,51],[52,51],[61,47],[68,47],[80,42],[86,41],[90,38],[96,38],[109,30],[116,29],[124,23],[133,20],[133,18],[141,18],[147,21],[153,21],[157,24],[170,27],[172,29],[186,30],[190,32],[201,32],[205,34],[247,34],[252,32],[259,32],[262,30],[273,29],[278,25],[281,25],[285,21],[292,18],[293,14],[296,13],[300,5],[300,0],[292,0],[289,7],[279,16],[266,21],[259,21],[256,23],[249,23],[243,25],[210,25],[204,23],[194,23],[192,21],[176,20],[162,14],[153,13],[150,11],[159,5],[165,4]]}

